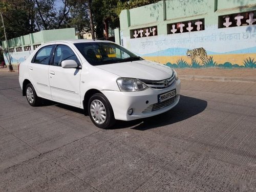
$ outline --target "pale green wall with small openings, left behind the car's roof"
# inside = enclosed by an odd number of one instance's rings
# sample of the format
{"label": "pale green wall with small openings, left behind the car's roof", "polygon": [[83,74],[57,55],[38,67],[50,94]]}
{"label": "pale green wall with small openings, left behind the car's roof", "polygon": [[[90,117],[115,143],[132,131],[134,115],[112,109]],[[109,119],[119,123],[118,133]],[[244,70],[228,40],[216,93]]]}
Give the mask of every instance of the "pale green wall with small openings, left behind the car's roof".
{"label": "pale green wall with small openings, left behind the car's roof", "polygon": [[[65,40],[65,39],[76,39],[78,38],[75,34],[75,28],[68,29],[55,29],[55,30],[44,30],[28,35],[9,39],[8,47],[11,58],[11,63],[15,66],[18,63],[23,62],[28,56],[41,44],[53,40]],[[8,54],[7,54],[7,42],[2,41],[2,48],[5,63],[9,65]]]}

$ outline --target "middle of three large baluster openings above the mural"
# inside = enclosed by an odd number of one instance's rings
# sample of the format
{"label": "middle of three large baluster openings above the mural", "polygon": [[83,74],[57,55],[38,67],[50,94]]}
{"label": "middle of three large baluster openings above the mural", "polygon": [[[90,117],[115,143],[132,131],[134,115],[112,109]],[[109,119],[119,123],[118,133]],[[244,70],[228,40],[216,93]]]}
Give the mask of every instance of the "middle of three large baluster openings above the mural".
{"label": "middle of three large baluster openings above the mural", "polygon": [[187,33],[204,30],[204,19],[167,24],[167,34]]}

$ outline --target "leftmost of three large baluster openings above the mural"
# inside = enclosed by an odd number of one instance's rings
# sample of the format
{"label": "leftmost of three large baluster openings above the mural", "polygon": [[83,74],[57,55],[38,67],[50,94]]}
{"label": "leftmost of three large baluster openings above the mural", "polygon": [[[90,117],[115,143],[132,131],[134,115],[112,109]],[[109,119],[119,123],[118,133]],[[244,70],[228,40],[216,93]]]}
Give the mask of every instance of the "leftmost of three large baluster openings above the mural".
{"label": "leftmost of three large baluster openings above the mural", "polygon": [[130,30],[131,38],[157,36],[157,26]]}

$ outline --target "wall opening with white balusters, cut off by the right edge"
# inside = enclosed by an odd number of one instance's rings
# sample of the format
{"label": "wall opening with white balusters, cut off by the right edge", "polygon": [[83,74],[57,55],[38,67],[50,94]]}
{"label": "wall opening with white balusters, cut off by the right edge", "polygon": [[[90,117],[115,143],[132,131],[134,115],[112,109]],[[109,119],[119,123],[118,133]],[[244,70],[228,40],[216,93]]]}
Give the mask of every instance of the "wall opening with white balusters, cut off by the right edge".
{"label": "wall opening with white balusters, cut off by the right edge", "polygon": [[219,28],[256,25],[256,11],[219,16]]}

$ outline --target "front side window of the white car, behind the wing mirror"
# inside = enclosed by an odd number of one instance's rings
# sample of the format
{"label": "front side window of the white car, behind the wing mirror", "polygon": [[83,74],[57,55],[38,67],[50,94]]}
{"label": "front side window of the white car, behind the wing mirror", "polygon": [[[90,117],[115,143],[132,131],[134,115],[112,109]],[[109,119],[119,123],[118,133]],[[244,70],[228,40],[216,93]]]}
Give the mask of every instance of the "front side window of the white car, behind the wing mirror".
{"label": "front side window of the white car, behind the wing mirror", "polygon": [[68,46],[58,45],[54,52],[54,66],[61,66],[63,60],[75,60],[78,64],[80,63],[75,53]]}

